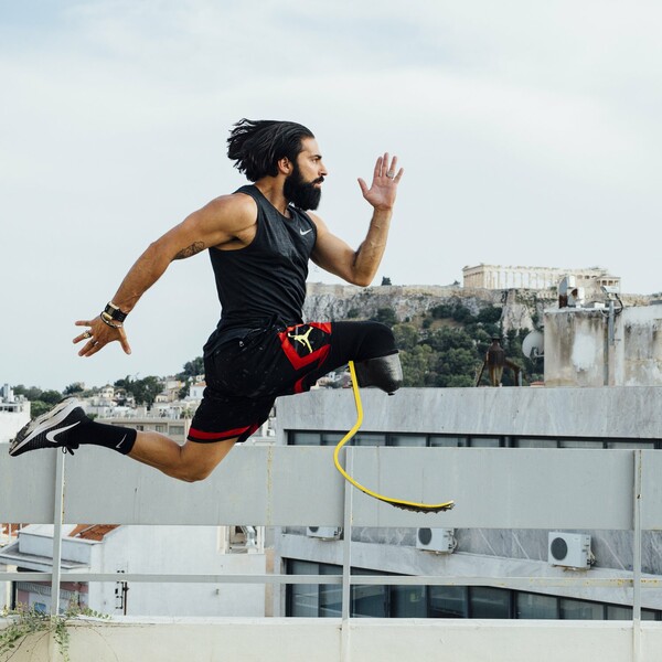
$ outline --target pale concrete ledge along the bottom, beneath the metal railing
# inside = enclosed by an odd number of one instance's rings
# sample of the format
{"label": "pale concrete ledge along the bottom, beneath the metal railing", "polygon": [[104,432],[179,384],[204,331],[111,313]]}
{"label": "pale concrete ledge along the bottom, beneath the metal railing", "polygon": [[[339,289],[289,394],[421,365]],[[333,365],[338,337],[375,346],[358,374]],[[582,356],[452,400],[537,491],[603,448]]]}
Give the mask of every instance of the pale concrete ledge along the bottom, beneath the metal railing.
{"label": "pale concrete ledge along the bottom, beneath the metal railing", "polygon": [[[3,623],[0,621],[0,630]],[[71,627],[72,662],[656,662],[662,623],[352,619],[114,619]],[[12,662],[56,660],[46,637]]]}

